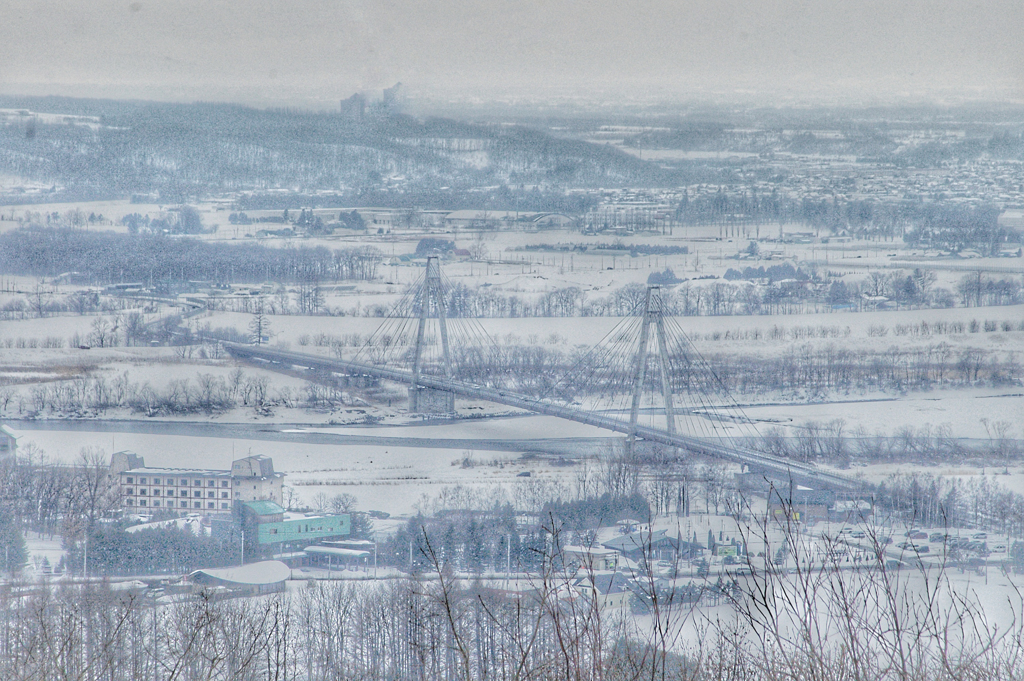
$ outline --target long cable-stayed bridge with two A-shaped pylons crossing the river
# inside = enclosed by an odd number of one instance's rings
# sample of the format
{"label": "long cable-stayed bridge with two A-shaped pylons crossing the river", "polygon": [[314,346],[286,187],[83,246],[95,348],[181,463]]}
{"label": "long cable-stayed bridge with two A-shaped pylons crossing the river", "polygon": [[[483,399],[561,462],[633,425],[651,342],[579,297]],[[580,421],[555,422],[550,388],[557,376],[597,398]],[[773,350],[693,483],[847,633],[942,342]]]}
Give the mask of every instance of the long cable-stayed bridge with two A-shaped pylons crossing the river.
{"label": "long cable-stayed bridge with two A-shaped pylons crossing the river", "polygon": [[458,395],[624,433],[629,450],[644,440],[742,464],[783,483],[862,488],[857,480],[754,450],[756,424],[675,320],[663,313],[662,302],[662,291],[648,287],[634,315],[589,350],[562,357],[556,375],[536,351],[503,345],[487,334],[471,310],[460,308],[459,287],[429,258],[423,279],[352,356],[236,343],[225,348],[270,369],[406,384],[414,413],[451,413]]}

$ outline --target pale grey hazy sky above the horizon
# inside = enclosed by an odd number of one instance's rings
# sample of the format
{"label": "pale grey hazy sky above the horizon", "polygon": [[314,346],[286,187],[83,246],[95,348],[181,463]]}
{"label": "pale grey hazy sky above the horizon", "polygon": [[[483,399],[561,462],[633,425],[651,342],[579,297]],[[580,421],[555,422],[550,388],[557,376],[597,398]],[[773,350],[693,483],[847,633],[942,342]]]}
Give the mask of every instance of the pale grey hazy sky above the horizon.
{"label": "pale grey hazy sky above the horizon", "polygon": [[1022,45],[1022,0],[0,0],[0,92],[1021,100]]}

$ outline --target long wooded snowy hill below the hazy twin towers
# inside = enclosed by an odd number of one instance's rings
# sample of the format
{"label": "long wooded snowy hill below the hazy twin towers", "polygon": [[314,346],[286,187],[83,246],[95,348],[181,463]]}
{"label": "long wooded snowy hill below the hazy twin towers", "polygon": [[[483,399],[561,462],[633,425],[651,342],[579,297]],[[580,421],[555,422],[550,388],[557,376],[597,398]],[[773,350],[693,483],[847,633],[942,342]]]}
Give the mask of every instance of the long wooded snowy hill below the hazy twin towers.
{"label": "long wooded snowy hill below the hazy twin towers", "polygon": [[0,107],[100,117],[98,129],[43,119],[0,126],[0,172],[76,196],[676,183],[672,171],[610,146],[522,126],[59,97],[0,97]]}

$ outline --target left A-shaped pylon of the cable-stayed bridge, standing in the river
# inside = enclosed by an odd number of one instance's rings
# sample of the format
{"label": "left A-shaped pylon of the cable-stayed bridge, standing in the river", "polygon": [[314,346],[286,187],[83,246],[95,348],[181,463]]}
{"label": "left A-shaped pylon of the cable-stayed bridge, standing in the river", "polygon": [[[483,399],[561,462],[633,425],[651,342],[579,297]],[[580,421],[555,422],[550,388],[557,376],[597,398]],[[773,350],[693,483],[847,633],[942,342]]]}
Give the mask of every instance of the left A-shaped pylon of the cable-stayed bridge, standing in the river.
{"label": "left A-shaped pylon of the cable-stayed bridge, standing in the river", "polygon": [[428,388],[420,383],[423,371],[424,334],[431,310],[437,317],[441,337],[441,365],[445,379],[452,379],[452,352],[449,345],[447,318],[444,311],[444,292],[441,289],[441,266],[436,256],[427,258],[427,271],[420,290],[420,322],[416,330],[413,355],[413,380],[409,386],[409,411],[415,414],[452,414],[455,412],[455,393]]}

